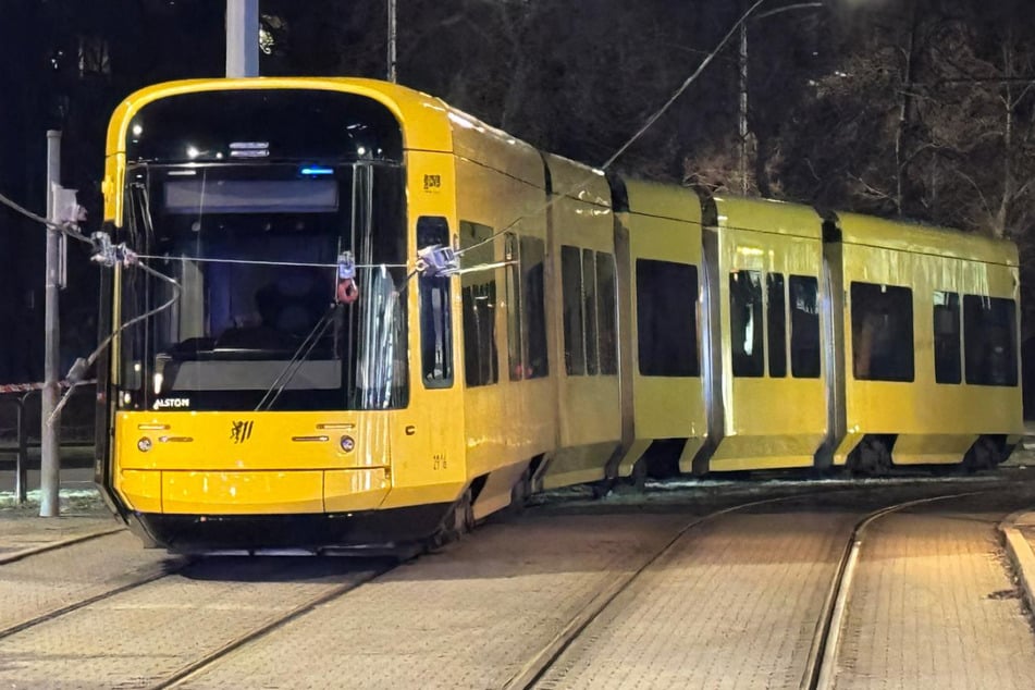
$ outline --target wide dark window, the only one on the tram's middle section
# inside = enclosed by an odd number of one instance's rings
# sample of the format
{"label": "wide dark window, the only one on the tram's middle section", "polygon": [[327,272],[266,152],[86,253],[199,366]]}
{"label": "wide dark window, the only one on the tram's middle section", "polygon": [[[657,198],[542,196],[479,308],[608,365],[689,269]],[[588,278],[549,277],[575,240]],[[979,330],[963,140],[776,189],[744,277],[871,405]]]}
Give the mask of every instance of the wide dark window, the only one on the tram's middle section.
{"label": "wide dark window, the only one on the tram's middle section", "polygon": [[644,377],[698,377],[698,268],[637,259],[637,353]]}

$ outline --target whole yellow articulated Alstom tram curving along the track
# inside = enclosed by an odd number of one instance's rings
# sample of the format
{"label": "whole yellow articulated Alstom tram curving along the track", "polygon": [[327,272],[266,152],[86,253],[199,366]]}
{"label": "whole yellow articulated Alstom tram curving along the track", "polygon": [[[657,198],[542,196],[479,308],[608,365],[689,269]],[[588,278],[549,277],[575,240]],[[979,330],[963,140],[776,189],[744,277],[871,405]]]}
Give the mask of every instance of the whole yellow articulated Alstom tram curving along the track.
{"label": "whole yellow articulated Alstom tram curving along the track", "polygon": [[138,91],[104,195],[175,285],[106,276],[97,482],[174,551],[422,542],[658,455],[990,465],[1020,432],[1006,242],[608,177],[353,78]]}

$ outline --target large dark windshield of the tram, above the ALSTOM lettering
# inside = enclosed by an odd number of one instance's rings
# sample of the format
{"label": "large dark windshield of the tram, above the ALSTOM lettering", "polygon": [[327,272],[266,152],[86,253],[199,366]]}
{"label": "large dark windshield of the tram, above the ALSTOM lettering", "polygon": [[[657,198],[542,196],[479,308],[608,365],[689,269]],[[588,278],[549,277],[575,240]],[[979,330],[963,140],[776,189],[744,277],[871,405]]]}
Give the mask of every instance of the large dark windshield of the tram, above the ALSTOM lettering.
{"label": "large dark windshield of the tram, above the ALSTOM lettering", "polygon": [[[402,168],[131,165],[125,239],[180,284],[119,343],[124,409],[387,409],[407,403]],[[335,299],[337,260],[358,298]],[[124,270],[122,323],[174,297]]]}

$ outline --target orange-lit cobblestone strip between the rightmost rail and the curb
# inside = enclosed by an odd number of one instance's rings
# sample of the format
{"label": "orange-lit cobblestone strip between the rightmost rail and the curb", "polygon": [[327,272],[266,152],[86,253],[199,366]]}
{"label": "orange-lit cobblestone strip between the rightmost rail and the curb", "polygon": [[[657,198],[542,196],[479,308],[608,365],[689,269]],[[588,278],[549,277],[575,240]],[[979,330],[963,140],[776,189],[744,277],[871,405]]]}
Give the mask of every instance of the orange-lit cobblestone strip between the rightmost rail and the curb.
{"label": "orange-lit cobblestone strip between the rightmost rail and the curb", "polygon": [[1001,512],[889,516],[863,543],[836,687],[1031,688],[1035,637]]}

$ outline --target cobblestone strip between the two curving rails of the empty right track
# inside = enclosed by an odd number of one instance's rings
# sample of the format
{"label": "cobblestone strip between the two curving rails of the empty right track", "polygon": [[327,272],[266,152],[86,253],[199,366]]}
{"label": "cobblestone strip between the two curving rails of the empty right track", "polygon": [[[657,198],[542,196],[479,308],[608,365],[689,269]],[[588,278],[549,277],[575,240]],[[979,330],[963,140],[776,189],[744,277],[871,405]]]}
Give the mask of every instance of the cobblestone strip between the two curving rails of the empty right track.
{"label": "cobblestone strip between the two curving rails of the empty right track", "polygon": [[689,533],[540,688],[798,688],[855,516],[732,515]]}

